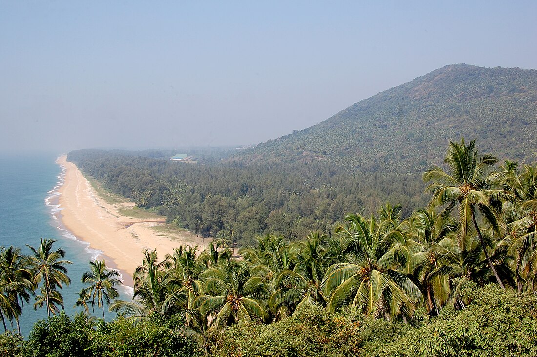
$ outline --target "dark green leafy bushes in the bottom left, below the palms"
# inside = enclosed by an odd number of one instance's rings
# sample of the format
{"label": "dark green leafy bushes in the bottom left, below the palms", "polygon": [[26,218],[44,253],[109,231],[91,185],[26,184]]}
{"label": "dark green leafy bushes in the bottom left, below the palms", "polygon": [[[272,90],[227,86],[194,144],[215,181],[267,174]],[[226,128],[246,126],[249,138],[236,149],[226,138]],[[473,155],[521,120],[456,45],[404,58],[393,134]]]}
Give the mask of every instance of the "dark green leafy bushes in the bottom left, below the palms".
{"label": "dark green leafy bushes in the bottom left, below the palms", "polygon": [[[85,319],[71,320],[62,312],[59,316],[40,320],[34,325],[25,344],[24,356],[200,355],[197,343],[192,338],[184,337],[183,327],[184,319],[180,316],[163,318],[154,314],[136,323],[124,318],[111,323],[101,320],[97,330],[94,330]],[[9,347],[17,351],[17,340],[13,336],[8,336],[6,340],[11,343]]]}

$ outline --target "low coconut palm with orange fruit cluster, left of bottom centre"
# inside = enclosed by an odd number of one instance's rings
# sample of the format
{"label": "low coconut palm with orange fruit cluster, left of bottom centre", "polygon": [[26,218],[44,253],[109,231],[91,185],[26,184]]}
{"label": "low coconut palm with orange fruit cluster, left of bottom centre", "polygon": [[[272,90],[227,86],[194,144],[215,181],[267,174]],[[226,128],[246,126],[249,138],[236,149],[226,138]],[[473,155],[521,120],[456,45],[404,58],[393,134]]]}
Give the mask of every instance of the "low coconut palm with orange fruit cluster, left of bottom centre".
{"label": "low coconut palm with orange fruit cluster, left of bottom centre", "polygon": [[202,316],[212,318],[213,330],[221,330],[235,322],[267,318],[263,278],[252,276],[243,261],[224,261],[207,269],[201,278],[205,280],[205,294],[195,299],[194,306],[199,308]]}

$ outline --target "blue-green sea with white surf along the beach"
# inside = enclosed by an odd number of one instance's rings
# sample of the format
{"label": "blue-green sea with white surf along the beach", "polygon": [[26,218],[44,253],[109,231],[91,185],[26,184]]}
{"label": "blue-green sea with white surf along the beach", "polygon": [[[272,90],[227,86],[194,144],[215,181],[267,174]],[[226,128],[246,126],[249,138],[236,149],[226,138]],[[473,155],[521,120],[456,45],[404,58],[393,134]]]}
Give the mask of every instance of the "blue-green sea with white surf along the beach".
{"label": "blue-green sea with white surf along the beach", "polygon": [[[64,310],[72,316],[83,310],[81,307],[74,308],[77,293],[84,286],[82,274],[89,270],[90,260],[103,259],[103,252],[79,241],[61,222],[62,207],[57,199],[65,172],[56,163],[58,156],[0,155],[0,246],[13,245],[30,254],[27,245],[37,249],[41,237],[54,239],[54,249],[62,247],[66,251],[64,259],[73,263],[67,266],[71,283],[61,289]],[[132,290],[129,287],[119,287],[118,290],[119,298],[130,301]],[[19,319],[20,330],[25,337],[29,336],[35,322],[47,318],[46,308],[34,310],[34,302],[32,297],[30,303],[25,304]],[[93,315],[102,317],[97,304]],[[110,321],[116,314],[107,311],[105,305],[105,316]],[[16,329],[14,323],[13,326],[9,322],[6,324],[8,329]]]}

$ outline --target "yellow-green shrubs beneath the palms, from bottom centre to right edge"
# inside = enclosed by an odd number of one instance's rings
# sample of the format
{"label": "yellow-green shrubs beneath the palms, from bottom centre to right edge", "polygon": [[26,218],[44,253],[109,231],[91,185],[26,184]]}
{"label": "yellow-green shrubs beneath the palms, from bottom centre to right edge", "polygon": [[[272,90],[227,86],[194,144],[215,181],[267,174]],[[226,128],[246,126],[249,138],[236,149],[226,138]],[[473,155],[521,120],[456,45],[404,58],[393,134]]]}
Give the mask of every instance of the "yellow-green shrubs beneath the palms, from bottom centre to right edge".
{"label": "yellow-green shrubs beneath the palms, from bottom centre to right edge", "polygon": [[235,325],[215,356],[533,356],[537,353],[537,298],[497,285],[469,285],[466,309],[445,309],[420,326],[367,320],[308,308],[271,325]]}

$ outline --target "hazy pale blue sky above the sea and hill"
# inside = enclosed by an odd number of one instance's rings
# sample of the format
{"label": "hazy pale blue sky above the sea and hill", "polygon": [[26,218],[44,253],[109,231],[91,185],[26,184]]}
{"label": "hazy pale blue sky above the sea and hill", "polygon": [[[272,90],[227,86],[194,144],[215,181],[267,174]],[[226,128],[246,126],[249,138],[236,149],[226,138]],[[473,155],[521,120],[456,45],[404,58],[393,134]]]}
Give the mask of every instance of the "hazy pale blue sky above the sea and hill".
{"label": "hazy pale blue sky above the sea and hill", "polygon": [[0,152],[258,143],[453,63],[537,69],[537,1],[0,0]]}

